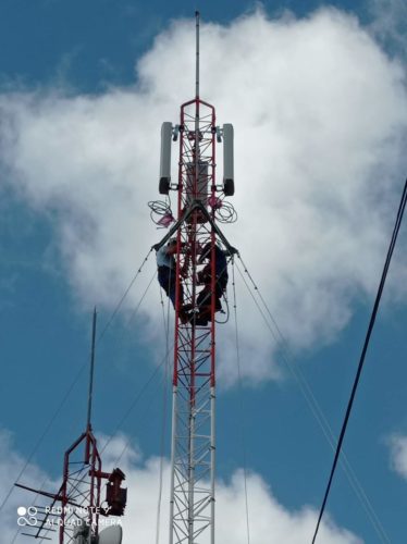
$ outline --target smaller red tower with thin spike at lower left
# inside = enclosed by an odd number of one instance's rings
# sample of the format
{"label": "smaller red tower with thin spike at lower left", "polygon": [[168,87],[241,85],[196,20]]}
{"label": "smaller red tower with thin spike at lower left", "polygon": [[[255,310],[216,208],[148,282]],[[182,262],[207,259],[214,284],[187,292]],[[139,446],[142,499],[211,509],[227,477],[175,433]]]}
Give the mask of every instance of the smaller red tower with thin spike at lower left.
{"label": "smaller red tower with thin spike at lower left", "polygon": [[[88,392],[88,409],[86,430],[65,452],[63,459],[63,479],[57,493],[34,490],[26,485],[15,484],[37,495],[48,497],[48,506],[36,506],[36,523],[30,532],[22,533],[42,541],[52,540],[50,535],[58,533],[59,544],[121,544],[122,528],[118,518],[124,515],[127,490],[122,487],[124,473],[114,469],[111,473],[102,471],[102,461],[97,440],[91,428],[91,404],[95,369],[96,310],[92,319],[90,374]],[[102,487],[106,484],[106,492]],[[104,492],[104,493],[103,493]],[[102,496],[106,498],[102,498]],[[110,522],[99,532],[101,518]]]}

